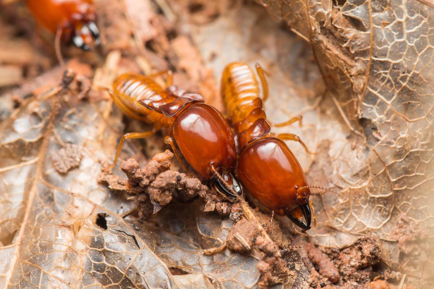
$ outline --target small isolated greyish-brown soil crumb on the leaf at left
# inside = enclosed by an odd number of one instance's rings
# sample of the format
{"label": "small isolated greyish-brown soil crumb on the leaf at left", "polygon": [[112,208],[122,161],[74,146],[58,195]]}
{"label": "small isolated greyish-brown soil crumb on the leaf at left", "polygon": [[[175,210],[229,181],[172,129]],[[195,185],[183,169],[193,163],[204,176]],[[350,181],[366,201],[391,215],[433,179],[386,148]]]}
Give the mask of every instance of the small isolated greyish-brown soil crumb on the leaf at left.
{"label": "small isolated greyish-brown soil crumb on the leaf at left", "polygon": [[53,154],[53,166],[56,171],[66,174],[69,169],[80,165],[82,152],[80,146],[67,143],[62,149]]}

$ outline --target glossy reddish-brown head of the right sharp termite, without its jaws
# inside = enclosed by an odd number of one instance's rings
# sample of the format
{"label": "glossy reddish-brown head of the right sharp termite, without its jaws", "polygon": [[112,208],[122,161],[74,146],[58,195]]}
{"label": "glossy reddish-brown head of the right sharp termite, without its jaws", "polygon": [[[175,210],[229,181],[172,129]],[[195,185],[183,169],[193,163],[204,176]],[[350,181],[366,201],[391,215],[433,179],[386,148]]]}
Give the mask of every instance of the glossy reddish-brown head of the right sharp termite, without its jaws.
{"label": "glossy reddish-brown head of the right sharp termite, without its jaws", "polygon": [[237,175],[263,205],[280,215],[284,215],[282,210],[297,207],[296,186],[307,185],[300,163],[286,143],[275,137],[257,140],[244,148]]}

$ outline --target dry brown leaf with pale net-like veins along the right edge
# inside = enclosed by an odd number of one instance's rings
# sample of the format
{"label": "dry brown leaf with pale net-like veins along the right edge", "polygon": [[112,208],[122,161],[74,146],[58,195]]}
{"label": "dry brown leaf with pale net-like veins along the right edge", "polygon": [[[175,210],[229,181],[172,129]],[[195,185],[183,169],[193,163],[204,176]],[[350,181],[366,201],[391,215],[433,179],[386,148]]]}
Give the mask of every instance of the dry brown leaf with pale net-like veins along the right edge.
{"label": "dry brown leaf with pale net-like veins along the right edge", "polygon": [[[413,0],[256,2],[312,45],[326,84],[317,124],[324,146],[308,175],[341,196],[316,198],[319,218],[341,232],[383,239],[385,260],[398,263],[392,231],[401,215],[434,236],[432,8]],[[334,230],[325,237],[322,226],[310,232],[318,244],[353,241]],[[401,269],[432,277],[433,252],[422,255],[404,255]]]}

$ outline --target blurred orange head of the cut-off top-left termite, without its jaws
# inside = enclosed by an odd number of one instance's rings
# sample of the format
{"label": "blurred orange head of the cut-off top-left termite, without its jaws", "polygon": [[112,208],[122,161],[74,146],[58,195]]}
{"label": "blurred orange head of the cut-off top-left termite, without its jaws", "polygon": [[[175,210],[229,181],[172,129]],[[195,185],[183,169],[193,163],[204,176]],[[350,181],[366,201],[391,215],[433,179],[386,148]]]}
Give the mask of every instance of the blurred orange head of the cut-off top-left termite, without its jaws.
{"label": "blurred orange head of the cut-off top-left termite, without its jaws", "polygon": [[[75,23],[77,15],[88,16],[92,0],[27,0],[27,6],[39,24],[55,33],[66,23]],[[92,12],[93,13],[93,12]]]}

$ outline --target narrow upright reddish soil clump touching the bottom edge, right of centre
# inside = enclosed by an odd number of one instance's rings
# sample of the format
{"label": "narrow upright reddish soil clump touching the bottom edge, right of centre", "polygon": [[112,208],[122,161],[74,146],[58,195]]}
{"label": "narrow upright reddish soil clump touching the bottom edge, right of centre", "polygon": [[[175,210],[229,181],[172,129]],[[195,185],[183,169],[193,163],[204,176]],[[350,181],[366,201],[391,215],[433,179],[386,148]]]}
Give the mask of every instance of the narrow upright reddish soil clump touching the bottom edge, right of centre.
{"label": "narrow upright reddish soil clump touching the bottom edge, right of centre", "polygon": [[263,289],[277,283],[285,283],[289,279],[289,270],[286,268],[286,262],[282,259],[277,244],[258,236],[255,245],[264,253],[264,256],[257,264],[261,273],[258,287]]}

